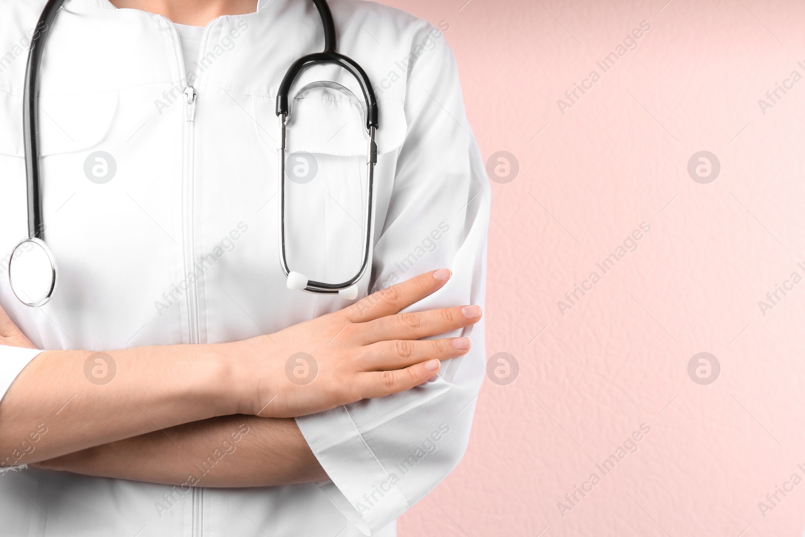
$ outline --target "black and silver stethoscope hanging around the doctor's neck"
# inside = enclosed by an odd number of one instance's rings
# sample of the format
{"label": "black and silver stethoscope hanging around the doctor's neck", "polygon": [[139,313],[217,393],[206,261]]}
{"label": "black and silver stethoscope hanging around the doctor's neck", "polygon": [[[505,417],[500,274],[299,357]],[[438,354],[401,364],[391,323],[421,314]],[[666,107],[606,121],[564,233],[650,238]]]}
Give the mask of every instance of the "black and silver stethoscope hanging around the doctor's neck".
{"label": "black and silver stethoscope hanging around the doctor's neck", "polygon": [[[23,107],[23,140],[25,143],[25,172],[27,179],[27,215],[28,238],[23,239],[11,253],[9,260],[9,280],[11,290],[20,302],[31,307],[39,307],[52,298],[59,280],[59,268],[56,257],[44,240],[44,221],[42,216],[42,188],[39,170],[39,106],[36,97],[39,95],[39,68],[41,65],[43,48],[47,39],[47,32],[52,27],[56,13],[67,0],[48,0],[39,17],[37,31],[31,38],[31,48],[28,51],[27,67],[25,72],[25,95],[27,99]],[[377,146],[374,143],[374,133],[378,129],[378,101],[374,96],[374,89],[369,82],[369,76],[357,62],[336,52],[336,27],[332,21],[332,13],[326,0],[313,0],[319,10],[321,23],[324,27],[324,51],[315,52],[296,60],[283,77],[277,92],[277,116],[280,126],[279,147],[279,262],[283,273],[287,277],[289,289],[299,289],[317,294],[338,294],[345,299],[357,298],[357,282],[365,274],[369,265],[369,247],[372,240],[373,221],[373,185],[374,165],[378,160]],[[367,201],[366,225],[363,236],[361,267],[352,278],[341,283],[325,283],[308,279],[307,276],[291,271],[286,256],[285,241],[285,159],[286,134],[288,119],[291,117],[291,108],[288,105],[288,93],[299,74],[304,69],[316,64],[335,64],[349,72],[361,86],[365,104],[366,131],[369,134],[369,151],[366,159],[367,173]],[[354,97],[353,93],[344,86],[334,82],[314,82],[299,89],[298,93],[305,91],[313,85],[327,85],[337,87],[341,91]]]}

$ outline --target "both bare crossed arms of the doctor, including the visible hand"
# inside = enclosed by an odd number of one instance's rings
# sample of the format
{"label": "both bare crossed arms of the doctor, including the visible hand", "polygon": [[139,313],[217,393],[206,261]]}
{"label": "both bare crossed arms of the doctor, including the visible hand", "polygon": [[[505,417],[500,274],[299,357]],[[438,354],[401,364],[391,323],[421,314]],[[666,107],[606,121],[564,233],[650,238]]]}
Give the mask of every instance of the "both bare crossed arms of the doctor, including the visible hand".
{"label": "both bare crossed arms of the doctor, including the visible hand", "polygon": [[[43,407],[69,398],[76,402],[56,412],[52,432],[20,464],[172,485],[324,481],[292,418],[407,390],[433,377],[439,359],[466,353],[467,338],[416,340],[474,324],[480,308],[399,313],[448,278],[449,271],[420,275],[268,340],[116,351],[118,377],[102,389],[83,378],[89,353],[40,353],[0,400],[0,453],[13,448],[7,439],[37,427]],[[33,347],[2,308],[0,345]],[[287,357],[300,351],[312,352],[319,367],[304,386],[284,373]],[[175,369],[166,371],[166,361]],[[200,370],[208,362],[213,368]],[[225,388],[212,387],[219,384]],[[246,388],[233,394],[232,386]]]}

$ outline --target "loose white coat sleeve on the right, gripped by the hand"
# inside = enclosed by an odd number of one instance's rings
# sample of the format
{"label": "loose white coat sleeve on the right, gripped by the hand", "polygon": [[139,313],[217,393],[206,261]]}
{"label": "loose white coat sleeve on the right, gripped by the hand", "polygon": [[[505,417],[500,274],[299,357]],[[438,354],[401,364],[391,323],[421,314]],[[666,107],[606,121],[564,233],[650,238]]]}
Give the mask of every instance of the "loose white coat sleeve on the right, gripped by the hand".
{"label": "loose white coat sleeve on the right, gripped by the hand", "polygon": [[[409,69],[405,112],[408,132],[371,288],[447,267],[448,283],[407,311],[483,307],[489,182],[444,39]],[[464,455],[485,372],[483,320],[441,337],[462,335],[472,349],[445,361],[435,382],[296,419],[332,480],[320,489],[365,535],[423,498]]]}

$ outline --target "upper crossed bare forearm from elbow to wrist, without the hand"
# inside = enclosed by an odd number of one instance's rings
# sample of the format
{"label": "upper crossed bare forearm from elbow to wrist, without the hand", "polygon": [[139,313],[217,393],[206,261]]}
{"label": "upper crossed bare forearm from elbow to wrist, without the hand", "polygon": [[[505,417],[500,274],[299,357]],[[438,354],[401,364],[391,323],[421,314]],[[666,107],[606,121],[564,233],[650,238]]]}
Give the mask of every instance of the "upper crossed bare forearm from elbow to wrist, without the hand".
{"label": "upper crossed bare forearm from elbow to wrist, without the hand", "polygon": [[226,390],[232,383],[223,354],[234,351],[166,345],[40,353],[0,401],[0,466],[233,414],[236,394]]}

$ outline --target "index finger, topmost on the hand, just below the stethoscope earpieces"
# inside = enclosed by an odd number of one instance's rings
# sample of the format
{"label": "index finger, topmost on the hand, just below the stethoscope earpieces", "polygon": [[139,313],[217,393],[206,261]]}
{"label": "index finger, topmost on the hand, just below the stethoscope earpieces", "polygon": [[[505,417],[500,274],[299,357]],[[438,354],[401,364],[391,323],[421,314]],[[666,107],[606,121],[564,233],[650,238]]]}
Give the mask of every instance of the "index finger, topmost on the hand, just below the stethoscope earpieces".
{"label": "index finger, topmost on the hand, just below the stethoscope earpieces", "polygon": [[450,276],[450,271],[447,269],[426,272],[402,283],[395,283],[391,287],[381,289],[342,309],[341,312],[353,323],[364,323],[368,320],[394,315],[440,290]]}

